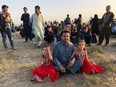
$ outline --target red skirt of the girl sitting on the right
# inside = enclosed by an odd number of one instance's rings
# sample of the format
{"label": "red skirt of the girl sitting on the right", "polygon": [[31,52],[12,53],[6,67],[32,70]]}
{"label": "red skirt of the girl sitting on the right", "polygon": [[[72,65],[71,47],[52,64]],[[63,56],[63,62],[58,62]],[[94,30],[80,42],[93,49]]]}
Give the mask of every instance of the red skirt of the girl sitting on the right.
{"label": "red skirt of the girl sitting on the right", "polygon": [[[79,55],[75,55],[76,57],[79,57]],[[82,61],[83,61],[83,65],[80,68],[80,71],[86,74],[93,74],[93,73],[98,73],[101,74],[104,71],[104,68],[90,62],[87,58],[86,55],[82,56]]]}

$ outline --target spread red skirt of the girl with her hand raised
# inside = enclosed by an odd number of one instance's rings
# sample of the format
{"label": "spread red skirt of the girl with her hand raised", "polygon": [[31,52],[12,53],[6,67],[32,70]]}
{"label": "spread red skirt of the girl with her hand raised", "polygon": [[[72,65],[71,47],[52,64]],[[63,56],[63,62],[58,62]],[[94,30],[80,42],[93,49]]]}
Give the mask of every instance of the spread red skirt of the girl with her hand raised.
{"label": "spread red skirt of the girl with her hand raised", "polygon": [[59,73],[54,69],[54,64],[50,60],[46,60],[40,67],[35,68],[32,72],[34,80],[38,82],[51,81],[58,79]]}

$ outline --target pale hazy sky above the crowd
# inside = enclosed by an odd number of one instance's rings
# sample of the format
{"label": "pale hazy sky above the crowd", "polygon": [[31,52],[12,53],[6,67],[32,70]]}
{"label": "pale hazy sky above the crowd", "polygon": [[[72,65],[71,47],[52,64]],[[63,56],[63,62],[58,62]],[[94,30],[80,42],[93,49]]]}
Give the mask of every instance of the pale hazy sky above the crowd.
{"label": "pale hazy sky above the crowd", "polygon": [[28,12],[32,15],[36,5],[41,7],[45,21],[64,20],[67,13],[73,20],[81,13],[83,22],[86,22],[94,14],[98,14],[98,17],[101,18],[106,12],[106,5],[111,5],[111,11],[116,14],[116,0],[0,0],[0,6],[3,4],[9,6],[9,12],[15,25],[21,24],[20,17],[23,7],[27,7]]}

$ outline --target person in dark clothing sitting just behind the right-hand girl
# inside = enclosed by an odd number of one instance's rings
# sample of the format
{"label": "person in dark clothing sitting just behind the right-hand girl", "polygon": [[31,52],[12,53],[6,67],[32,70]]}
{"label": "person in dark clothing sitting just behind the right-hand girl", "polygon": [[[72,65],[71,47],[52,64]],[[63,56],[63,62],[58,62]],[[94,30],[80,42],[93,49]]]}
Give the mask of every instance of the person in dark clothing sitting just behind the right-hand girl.
{"label": "person in dark clothing sitting just behind the right-hand girl", "polygon": [[89,29],[89,27],[86,25],[85,27],[83,27],[83,30],[81,32],[81,39],[85,40],[86,44],[88,44],[89,46],[91,46],[91,30]]}

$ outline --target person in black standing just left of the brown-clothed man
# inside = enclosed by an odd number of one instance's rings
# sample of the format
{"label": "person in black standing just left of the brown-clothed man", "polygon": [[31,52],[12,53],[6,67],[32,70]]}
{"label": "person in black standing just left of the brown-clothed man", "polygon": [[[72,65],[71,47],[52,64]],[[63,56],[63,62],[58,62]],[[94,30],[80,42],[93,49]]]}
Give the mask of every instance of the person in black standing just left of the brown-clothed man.
{"label": "person in black standing just left of the brown-clothed man", "polygon": [[98,15],[95,14],[95,15],[94,15],[94,18],[93,18],[93,19],[91,20],[91,22],[90,22],[90,24],[92,25],[92,26],[91,26],[91,32],[92,32],[92,33],[95,33],[95,34],[97,34],[97,35],[99,35],[99,28],[98,28],[99,23],[98,23],[98,21],[99,21]]}

